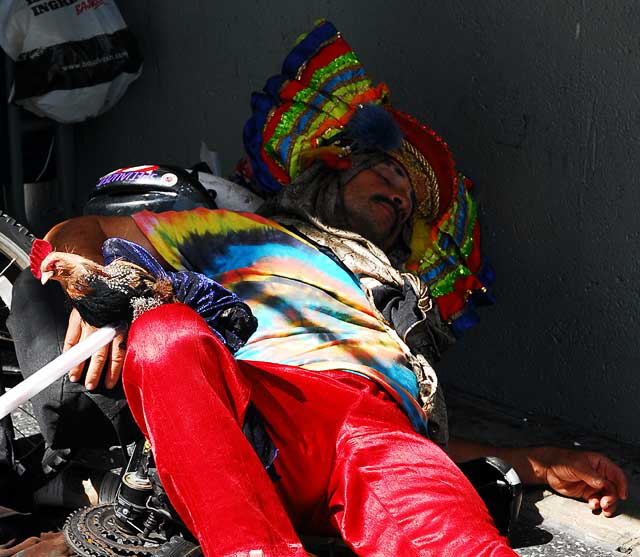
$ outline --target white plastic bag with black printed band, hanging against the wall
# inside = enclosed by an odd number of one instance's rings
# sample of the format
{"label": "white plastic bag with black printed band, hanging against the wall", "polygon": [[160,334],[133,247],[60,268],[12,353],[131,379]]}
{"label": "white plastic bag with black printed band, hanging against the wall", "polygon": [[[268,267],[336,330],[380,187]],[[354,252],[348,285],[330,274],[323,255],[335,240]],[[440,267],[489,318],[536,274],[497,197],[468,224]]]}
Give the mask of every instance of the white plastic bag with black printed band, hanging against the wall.
{"label": "white plastic bag with black printed band, hanging against the wall", "polygon": [[63,123],[108,110],[142,69],[114,0],[0,0],[0,46],[15,61],[10,100]]}

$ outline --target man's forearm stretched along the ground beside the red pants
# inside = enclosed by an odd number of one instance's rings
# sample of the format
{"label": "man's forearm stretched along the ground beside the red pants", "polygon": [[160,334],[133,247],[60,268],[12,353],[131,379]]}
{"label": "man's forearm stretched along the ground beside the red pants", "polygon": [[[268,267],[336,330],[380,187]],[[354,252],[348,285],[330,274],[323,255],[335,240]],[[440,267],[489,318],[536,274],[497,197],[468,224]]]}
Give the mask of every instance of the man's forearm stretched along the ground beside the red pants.
{"label": "man's forearm stretched along the ground beside the red pants", "polygon": [[464,439],[451,439],[448,453],[455,462],[482,456],[497,456],[513,466],[526,484],[545,484],[546,463],[552,458],[553,447],[506,448],[493,447]]}

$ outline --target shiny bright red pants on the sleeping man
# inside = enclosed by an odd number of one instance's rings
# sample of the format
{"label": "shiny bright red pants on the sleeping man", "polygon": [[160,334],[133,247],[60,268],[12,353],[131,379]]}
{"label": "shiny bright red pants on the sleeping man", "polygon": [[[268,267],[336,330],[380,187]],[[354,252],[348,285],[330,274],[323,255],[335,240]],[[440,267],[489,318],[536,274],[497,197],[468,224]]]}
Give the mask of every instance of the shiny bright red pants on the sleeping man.
{"label": "shiny bright red pants on the sleeping man", "polygon": [[[174,304],[133,324],[123,381],[208,557],[306,555],[296,532],[366,557],[516,555],[455,464],[368,379],[235,360]],[[275,482],[241,431],[249,401],[279,450]]]}

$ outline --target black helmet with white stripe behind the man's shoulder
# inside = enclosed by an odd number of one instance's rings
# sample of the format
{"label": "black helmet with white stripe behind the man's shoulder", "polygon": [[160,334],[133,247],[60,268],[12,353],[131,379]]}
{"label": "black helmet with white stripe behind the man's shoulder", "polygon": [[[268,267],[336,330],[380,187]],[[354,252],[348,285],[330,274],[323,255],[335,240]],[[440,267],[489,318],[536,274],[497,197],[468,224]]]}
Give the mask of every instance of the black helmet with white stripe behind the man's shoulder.
{"label": "black helmet with white stripe behind the man's shoulder", "polygon": [[100,178],[83,213],[122,216],[143,210],[215,209],[214,198],[215,192],[204,188],[195,171],[167,165],[131,166]]}

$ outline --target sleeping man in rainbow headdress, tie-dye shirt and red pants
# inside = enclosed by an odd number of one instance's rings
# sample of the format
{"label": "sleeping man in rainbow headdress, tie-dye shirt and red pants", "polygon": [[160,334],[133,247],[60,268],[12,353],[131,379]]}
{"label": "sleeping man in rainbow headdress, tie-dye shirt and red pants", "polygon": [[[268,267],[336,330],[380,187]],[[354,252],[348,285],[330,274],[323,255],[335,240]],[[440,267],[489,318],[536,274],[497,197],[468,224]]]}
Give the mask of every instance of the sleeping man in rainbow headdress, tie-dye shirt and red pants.
{"label": "sleeping man in rainbow headdress, tie-dye shirt and red pants", "polygon": [[[488,273],[446,144],[390,106],[326,22],[253,111],[244,175],[267,198],[258,214],[80,217],[47,235],[97,262],[108,238],[135,242],[257,320],[234,353],[188,305],[152,304],[126,349],[116,339],[71,372],[90,390],[122,384],[205,555],[307,555],[299,533],[362,557],[516,555],[454,463],[486,454],[611,515],[626,480],[601,454],[449,439],[432,364],[488,297]],[[67,344],[90,330],[72,312]],[[242,432],[249,408],[275,448],[266,468]]]}

